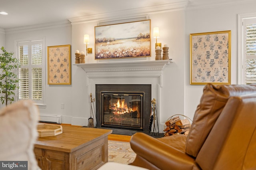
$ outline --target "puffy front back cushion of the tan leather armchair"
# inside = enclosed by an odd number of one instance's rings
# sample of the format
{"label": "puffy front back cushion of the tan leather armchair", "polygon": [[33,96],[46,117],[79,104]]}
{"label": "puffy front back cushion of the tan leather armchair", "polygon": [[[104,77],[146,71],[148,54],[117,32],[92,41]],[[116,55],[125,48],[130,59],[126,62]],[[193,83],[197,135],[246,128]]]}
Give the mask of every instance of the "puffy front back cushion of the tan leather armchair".
{"label": "puffy front back cushion of the tan leather armchair", "polygon": [[231,96],[255,92],[256,85],[212,85],[204,87],[200,104],[186,139],[186,153],[196,157],[202,144]]}

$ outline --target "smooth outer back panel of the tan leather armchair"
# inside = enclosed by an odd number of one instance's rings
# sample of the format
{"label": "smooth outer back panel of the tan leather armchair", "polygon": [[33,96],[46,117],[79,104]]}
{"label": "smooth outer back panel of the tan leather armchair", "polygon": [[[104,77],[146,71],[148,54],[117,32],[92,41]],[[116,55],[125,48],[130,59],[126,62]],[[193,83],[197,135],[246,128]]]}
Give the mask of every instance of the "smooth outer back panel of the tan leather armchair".
{"label": "smooth outer back panel of the tan leather armchair", "polygon": [[200,149],[203,170],[256,168],[256,93],[230,97]]}

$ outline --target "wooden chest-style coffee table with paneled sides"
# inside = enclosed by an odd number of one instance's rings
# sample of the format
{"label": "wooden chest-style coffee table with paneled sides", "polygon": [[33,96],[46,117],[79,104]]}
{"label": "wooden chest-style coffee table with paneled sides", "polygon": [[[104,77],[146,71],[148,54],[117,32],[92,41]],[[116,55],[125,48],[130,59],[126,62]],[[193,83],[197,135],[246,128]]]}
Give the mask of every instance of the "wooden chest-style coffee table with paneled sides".
{"label": "wooden chest-style coffee table with paneled sides", "polygon": [[62,134],[39,137],[34,144],[42,170],[97,169],[108,162],[112,130],[62,125]]}

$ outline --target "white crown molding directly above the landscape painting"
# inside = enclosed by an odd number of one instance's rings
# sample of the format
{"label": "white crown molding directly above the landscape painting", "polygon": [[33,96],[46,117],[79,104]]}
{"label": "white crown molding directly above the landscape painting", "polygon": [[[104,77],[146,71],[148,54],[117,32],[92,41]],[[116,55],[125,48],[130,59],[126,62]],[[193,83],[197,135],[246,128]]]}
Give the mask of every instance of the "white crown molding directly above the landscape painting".
{"label": "white crown molding directly above the landscape painting", "polygon": [[147,6],[144,8],[133,8],[128,10],[122,11],[113,11],[108,13],[101,13],[101,14],[93,14],[87,16],[80,16],[69,18],[68,20],[71,24],[81,24],[86,22],[95,22],[101,20],[123,20],[132,17],[144,17],[148,16],[148,14],[156,14],[156,13],[163,13],[163,12],[170,12],[176,10],[184,10],[186,5],[188,4],[188,0],[179,0],[178,2],[172,2],[168,4],[161,4],[161,5],[154,5],[154,6]]}

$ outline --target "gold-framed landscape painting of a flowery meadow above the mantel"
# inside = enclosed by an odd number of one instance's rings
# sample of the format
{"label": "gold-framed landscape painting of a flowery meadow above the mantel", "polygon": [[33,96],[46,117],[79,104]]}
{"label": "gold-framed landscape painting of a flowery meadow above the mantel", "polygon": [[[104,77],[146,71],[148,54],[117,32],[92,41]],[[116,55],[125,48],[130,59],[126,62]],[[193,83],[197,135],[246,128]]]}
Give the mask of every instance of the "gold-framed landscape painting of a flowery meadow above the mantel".
{"label": "gold-framed landscape painting of a flowery meadow above the mantel", "polygon": [[95,26],[95,59],[150,57],[150,20]]}

